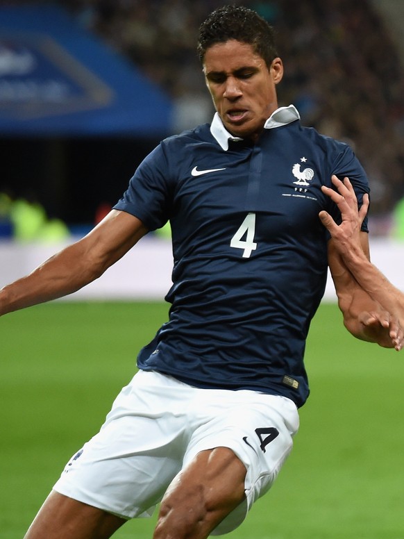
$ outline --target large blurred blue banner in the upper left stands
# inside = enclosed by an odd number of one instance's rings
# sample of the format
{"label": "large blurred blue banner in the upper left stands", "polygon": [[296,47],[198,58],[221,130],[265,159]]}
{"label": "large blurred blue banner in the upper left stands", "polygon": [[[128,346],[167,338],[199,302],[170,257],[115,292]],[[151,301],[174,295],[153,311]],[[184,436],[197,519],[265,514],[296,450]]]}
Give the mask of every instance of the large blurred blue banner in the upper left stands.
{"label": "large blurred blue banner in the upper left stands", "polygon": [[57,6],[0,7],[0,135],[170,132],[171,102]]}

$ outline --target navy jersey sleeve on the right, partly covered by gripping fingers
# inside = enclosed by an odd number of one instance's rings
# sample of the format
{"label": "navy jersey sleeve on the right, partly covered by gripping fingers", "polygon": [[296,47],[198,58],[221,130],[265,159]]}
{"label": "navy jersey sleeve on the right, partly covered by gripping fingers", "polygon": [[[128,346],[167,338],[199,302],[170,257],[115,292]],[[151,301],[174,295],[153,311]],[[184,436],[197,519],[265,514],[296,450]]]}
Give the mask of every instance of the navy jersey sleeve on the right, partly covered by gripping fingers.
{"label": "navy jersey sleeve on the right, partly covered by gripping fingers", "polygon": [[[342,151],[339,153],[333,167],[331,174],[335,174],[340,180],[348,178],[351,181],[353,189],[355,190],[357,204],[360,208],[363,204],[363,195],[370,192],[369,181],[367,179],[367,174],[364,172],[362,165],[355,156],[351,147],[347,144],[342,144]],[[341,214],[337,206],[335,206],[335,211],[333,215],[337,224],[341,223]],[[362,223],[361,230],[364,232],[369,232],[368,229],[368,218],[365,217]]]}

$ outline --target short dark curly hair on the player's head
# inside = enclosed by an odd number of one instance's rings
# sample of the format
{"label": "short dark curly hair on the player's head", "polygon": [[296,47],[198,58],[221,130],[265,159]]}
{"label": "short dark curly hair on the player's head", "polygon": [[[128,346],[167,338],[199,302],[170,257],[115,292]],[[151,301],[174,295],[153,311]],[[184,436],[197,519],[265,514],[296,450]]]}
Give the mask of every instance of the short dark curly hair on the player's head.
{"label": "short dark curly hair on the player's head", "polygon": [[222,6],[199,26],[196,50],[203,63],[206,51],[217,43],[237,40],[251,44],[269,66],[278,56],[273,27],[255,11],[244,6]]}

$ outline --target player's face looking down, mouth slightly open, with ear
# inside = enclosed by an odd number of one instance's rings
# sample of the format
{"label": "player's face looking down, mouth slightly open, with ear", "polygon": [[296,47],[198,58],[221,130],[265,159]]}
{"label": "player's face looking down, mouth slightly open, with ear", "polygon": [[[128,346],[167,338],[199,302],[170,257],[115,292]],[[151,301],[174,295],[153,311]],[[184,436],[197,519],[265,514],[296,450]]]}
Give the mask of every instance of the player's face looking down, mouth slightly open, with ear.
{"label": "player's face looking down, mouth slightly open, with ear", "polygon": [[226,129],[232,135],[257,140],[278,108],[276,85],[283,76],[282,60],[275,58],[268,67],[250,44],[229,40],[205,52],[203,72]]}

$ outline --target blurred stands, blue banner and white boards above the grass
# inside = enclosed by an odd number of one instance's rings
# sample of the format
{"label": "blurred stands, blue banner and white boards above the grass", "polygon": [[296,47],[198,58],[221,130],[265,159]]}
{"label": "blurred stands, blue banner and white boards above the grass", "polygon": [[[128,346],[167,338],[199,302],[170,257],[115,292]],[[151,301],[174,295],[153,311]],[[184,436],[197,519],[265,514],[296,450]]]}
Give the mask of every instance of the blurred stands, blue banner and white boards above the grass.
{"label": "blurred stands, blue banner and white boards above the grass", "polygon": [[[0,285],[39,263],[49,245],[99,222],[161,138],[210,121],[195,40],[205,15],[224,3],[1,2],[0,260],[8,263]],[[285,62],[280,104],[294,103],[303,124],[354,147],[371,183],[373,260],[402,288],[404,3],[235,3],[276,26]],[[157,290],[132,290],[135,279],[121,267],[119,280],[112,275],[81,297],[161,297],[170,252],[155,245],[153,260],[160,254],[164,264],[150,263],[146,275]]]}

